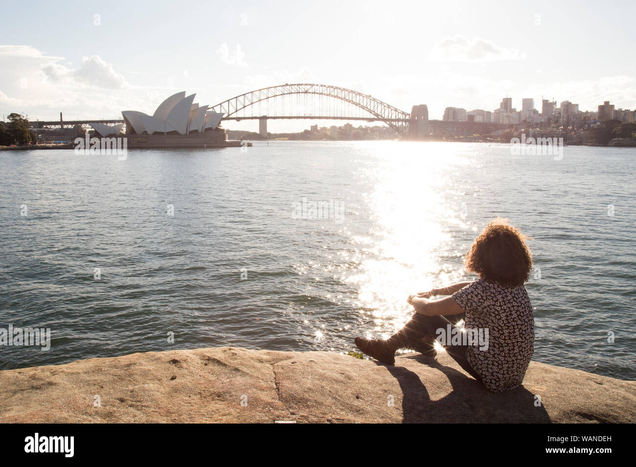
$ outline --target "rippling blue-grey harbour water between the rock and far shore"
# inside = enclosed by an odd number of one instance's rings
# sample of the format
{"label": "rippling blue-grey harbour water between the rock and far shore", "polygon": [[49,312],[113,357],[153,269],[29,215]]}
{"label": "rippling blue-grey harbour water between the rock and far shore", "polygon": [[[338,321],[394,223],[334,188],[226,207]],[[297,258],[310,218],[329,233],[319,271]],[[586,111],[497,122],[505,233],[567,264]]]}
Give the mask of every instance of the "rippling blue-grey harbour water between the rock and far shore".
{"label": "rippling blue-grey harbour water between the rock and far shore", "polygon": [[636,379],[636,149],[272,141],[0,165],[0,328],[52,335],[0,346],[0,369],[353,350],[402,325],[409,294],[474,278],[462,257],[501,215],[534,238],[534,360]]}

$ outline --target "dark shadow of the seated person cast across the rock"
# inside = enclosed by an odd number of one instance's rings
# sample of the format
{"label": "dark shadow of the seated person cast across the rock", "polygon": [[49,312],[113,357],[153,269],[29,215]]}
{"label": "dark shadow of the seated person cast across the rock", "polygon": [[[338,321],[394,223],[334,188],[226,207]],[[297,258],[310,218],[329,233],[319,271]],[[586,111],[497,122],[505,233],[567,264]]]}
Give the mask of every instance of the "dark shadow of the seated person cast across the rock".
{"label": "dark shadow of the seated person cast across the rock", "polygon": [[[431,400],[427,382],[399,366],[401,360],[415,360],[441,371],[452,391],[439,400]],[[535,395],[523,386],[492,393],[473,377],[420,353],[396,358],[396,366],[386,368],[402,389],[402,423],[551,423],[543,403],[537,403]]]}

